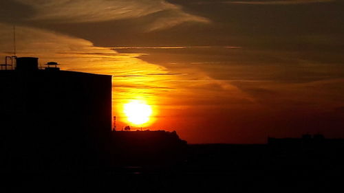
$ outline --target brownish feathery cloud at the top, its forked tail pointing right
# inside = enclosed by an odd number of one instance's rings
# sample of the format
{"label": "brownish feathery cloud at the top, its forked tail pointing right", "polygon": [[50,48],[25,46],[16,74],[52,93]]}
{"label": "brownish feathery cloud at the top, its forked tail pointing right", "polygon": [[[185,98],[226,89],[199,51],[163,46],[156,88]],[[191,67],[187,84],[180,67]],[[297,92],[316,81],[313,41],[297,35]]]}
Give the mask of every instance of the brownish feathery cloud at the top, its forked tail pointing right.
{"label": "brownish feathery cloud at the top, its forked tail pointing right", "polygon": [[15,0],[30,5],[36,11],[33,20],[82,23],[132,19],[164,12],[155,18],[147,31],[160,30],[184,22],[207,23],[208,19],[188,14],[178,5],[164,0]]}

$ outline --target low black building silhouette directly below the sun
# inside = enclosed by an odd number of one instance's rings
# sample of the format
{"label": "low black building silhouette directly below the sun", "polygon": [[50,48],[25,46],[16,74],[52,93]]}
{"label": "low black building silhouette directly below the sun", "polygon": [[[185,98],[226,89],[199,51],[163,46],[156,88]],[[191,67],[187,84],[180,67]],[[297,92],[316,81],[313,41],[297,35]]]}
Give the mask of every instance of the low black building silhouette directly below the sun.
{"label": "low black building silhouette directly below the sun", "polygon": [[175,131],[115,131],[111,139],[114,147],[111,162],[115,164],[169,165],[186,159],[187,143]]}

